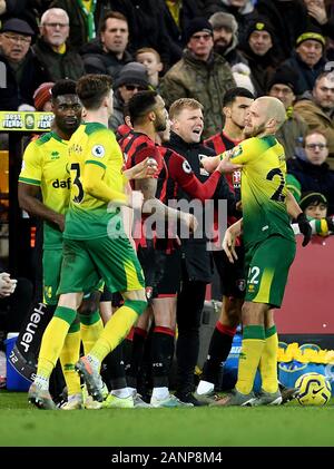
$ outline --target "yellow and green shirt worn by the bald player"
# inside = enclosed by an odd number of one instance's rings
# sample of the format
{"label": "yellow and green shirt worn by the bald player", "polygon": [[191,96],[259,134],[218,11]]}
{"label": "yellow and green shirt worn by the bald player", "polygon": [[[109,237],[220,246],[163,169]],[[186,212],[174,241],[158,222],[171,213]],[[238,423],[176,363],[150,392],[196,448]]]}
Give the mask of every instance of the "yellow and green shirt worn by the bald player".
{"label": "yellow and green shirt worn by the bald player", "polygon": [[286,211],[286,164],[283,146],[274,136],[248,138],[229,150],[243,165],[242,203],[245,246],[273,234],[294,241]]}

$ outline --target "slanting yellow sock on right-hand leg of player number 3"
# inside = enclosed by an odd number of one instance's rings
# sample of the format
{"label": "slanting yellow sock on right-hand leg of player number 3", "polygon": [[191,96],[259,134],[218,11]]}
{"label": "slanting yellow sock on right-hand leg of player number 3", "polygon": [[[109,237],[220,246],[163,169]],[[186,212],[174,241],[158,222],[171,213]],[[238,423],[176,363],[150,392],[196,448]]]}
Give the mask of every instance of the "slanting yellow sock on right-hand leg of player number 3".
{"label": "slanting yellow sock on right-hand leg of player number 3", "polygon": [[132,307],[126,305],[119,307],[105,325],[100,339],[89,355],[101,362],[124,340],[137,319],[138,313]]}

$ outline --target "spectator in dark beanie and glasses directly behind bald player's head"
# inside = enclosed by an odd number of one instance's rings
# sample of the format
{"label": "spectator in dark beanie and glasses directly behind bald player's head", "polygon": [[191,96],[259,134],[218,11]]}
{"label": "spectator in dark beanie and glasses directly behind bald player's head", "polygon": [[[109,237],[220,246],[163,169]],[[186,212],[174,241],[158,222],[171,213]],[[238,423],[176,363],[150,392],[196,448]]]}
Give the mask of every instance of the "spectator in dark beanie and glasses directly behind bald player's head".
{"label": "spectator in dark beanie and glasses directly behind bald player's head", "polygon": [[278,141],[284,146],[285,157],[294,158],[302,149],[308,126],[296,111],[293,104],[298,94],[297,74],[288,67],[281,67],[268,82],[268,95],[279,99],[286,109],[286,121],[276,133]]}

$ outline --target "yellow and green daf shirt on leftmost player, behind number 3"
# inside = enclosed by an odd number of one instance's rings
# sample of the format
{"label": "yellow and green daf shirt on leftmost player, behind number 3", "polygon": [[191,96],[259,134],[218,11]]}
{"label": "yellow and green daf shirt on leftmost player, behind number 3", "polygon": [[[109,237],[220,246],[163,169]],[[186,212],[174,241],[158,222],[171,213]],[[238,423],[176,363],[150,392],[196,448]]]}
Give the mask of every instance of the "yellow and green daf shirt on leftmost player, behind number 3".
{"label": "yellow and green daf shirt on leftmost player, behind number 3", "polygon": [[[39,186],[43,204],[66,214],[70,196],[68,141],[50,131],[31,141],[23,154],[19,182]],[[62,233],[57,225],[45,222],[45,248],[59,248]]]}

